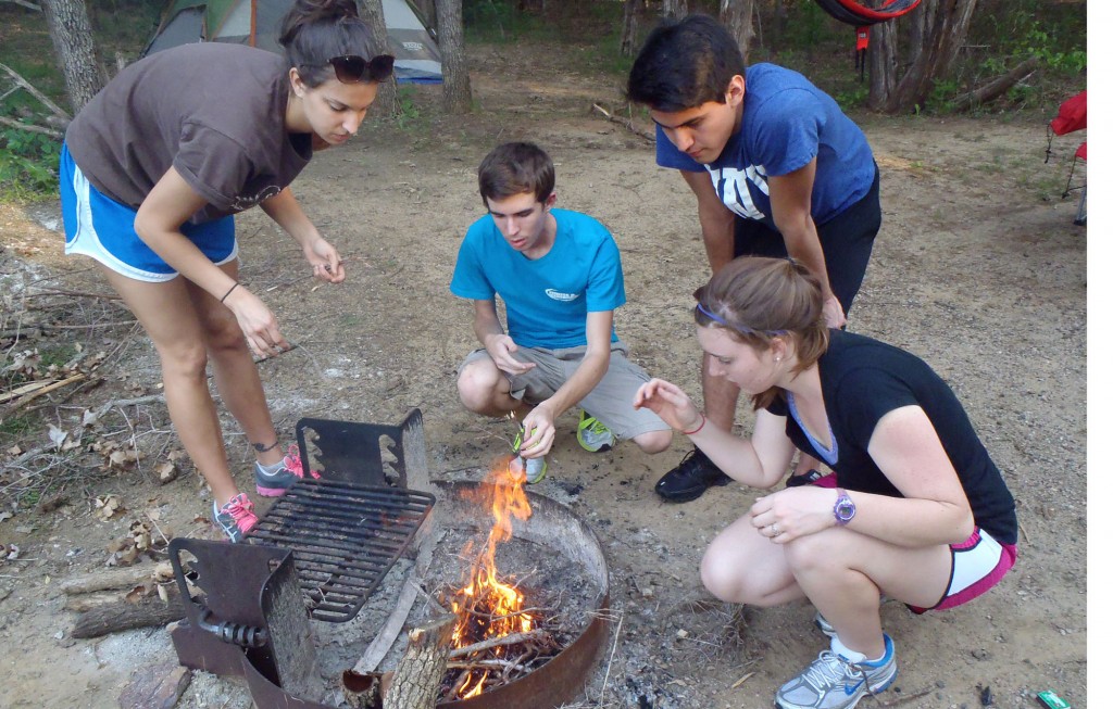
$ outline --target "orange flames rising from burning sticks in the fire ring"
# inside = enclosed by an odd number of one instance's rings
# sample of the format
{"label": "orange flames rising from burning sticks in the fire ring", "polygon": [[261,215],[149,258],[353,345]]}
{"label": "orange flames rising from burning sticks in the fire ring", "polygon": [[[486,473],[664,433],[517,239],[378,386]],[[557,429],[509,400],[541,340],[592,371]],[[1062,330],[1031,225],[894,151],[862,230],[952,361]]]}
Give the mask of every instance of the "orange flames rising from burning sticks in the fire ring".
{"label": "orange flames rising from burning sticks in the fire ring", "polygon": [[[533,618],[523,613],[524,597],[513,586],[499,579],[495,551],[501,542],[513,537],[513,520],[529,519],[532,510],[525,497],[525,472],[515,469],[511,458],[500,461],[474,492],[464,497],[489,509],[494,523],[487,533],[483,549],[472,562],[465,586],[455,592],[452,611],[457,616],[452,635],[454,648],[463,648],[491,638],[502,638],[512,633],[528,632],[533,628]],[[470,546],[464,553],[470,551]],[[493,648],[494,657],[502,656],[504,648]],[[489,670],[472,670],[456,691],[460,699],[467,699],[483,692]]]}

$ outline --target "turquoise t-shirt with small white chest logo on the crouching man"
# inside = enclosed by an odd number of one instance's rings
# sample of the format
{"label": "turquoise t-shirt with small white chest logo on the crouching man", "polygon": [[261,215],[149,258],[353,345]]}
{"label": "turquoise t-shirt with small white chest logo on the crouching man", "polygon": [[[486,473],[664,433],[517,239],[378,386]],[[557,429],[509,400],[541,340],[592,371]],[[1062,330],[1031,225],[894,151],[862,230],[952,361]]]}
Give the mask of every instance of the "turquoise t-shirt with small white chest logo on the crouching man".
{"label": "turquoise t-shirt with small white chest logo on the crouching man", "polygon": [[[467,229],[450,289],[470,300],[506,303],[506,329],[522,347],[564,349],[588,343],[588,313],[626,302],[622,261],[599,221],[554,209],[556,238],[549,253],[528,259],[506,243],[491,214]],[[611,341],[618,341],[611,328]]]}

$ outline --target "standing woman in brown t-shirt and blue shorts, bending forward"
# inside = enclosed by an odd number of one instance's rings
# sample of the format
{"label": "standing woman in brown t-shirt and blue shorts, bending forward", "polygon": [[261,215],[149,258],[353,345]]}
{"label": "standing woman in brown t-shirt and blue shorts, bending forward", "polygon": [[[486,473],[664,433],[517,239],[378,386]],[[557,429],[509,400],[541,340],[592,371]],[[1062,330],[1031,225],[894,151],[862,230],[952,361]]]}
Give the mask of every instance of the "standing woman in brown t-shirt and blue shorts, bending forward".
{"label": "standing woman in brown t-shirt and blue shorts, bending forward", "polygon": [[66,251],[98,261],[154,340],[170,420],[233,541],[258,520],[228,467],[209,360],[255,448],[257,492],[282,495],[302,468],[293,447],[284,457],[252,357],[290,344],[238,281],[232,216],[258,204],[314,276],[342,282],[339,254],[288,186],[314,150],[355,134],[393,69],[353,0],[297,0],[279,43],[285,58],[206,42],[131,64],[73,119],[60,169]]}

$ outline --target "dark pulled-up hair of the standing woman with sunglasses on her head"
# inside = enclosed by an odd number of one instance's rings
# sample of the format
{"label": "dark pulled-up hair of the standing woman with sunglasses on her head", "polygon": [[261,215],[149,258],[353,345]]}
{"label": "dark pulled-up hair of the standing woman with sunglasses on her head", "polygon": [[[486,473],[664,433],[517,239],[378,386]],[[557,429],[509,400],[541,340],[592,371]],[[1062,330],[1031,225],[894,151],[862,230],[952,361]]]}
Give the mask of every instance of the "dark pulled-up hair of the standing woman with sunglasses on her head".
{"label": "dark pulled-up hair of the standing woman with sunglasses on her head", "polygon": [[286,61],[311,89],[335,77],[328,60],[355,54],[371,59],[375,51],[371,27],[359,19],[355,0],[296,0],[282,23],[278,43]]}

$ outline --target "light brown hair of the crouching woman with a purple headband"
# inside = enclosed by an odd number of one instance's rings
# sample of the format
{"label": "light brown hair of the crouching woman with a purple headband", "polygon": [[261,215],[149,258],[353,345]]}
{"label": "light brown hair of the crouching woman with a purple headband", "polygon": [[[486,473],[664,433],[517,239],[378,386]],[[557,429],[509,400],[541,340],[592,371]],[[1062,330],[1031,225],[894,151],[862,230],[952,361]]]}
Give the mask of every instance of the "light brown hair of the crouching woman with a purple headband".
{"label": "light brown hair of the crouching woman with a purple headband", "polygon": [[[795,259],[737,258],[697,290],[696,298],[697,324],[721,328],[758,351],[769,349],[775,338],[792,338],[797,372],[827,351],[823,290]],[[774,388],[755,396],[754,408],[764,409],[779,395]]]}

